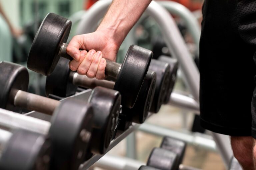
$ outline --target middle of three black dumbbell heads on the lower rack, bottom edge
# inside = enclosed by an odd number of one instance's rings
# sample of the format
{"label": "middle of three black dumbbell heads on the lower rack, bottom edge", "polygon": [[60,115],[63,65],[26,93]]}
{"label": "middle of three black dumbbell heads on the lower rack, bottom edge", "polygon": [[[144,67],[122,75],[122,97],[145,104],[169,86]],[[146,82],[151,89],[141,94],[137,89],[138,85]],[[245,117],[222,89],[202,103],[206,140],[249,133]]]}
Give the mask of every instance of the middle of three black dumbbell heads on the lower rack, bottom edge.
{"label": "middle of three black dumbbell heads on the lower rack, bottom edge", "polygon": [[147,165],[162,170],[176,170],[176,163],[176,153],[163,148],[154,148],[150,153]]}

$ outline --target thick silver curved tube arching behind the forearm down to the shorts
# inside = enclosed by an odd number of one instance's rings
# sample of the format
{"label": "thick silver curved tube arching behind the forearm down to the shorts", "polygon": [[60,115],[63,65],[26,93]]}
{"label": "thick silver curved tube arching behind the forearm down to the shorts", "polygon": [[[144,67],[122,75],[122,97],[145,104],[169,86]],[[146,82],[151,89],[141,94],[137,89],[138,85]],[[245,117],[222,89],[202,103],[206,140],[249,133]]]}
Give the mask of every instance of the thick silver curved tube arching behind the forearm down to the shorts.
{"label": "thick silver curved tube arching behind the forearm down to the shorts", "polygon": [[[77,34],[89,33],[92,29],[95,29],[98,21],[104,16],[111,2],[112,0],[96,2],[79,23]],[[155,1],[150,3],[145,12],[153,17],[159,24],[168,48],[173,52],[173,56],[176,57],[180,63],[180,67],[189,83],[189,88],[194,99],[199,101],[199,71],[175,21],[169,15],[168,11]]]}

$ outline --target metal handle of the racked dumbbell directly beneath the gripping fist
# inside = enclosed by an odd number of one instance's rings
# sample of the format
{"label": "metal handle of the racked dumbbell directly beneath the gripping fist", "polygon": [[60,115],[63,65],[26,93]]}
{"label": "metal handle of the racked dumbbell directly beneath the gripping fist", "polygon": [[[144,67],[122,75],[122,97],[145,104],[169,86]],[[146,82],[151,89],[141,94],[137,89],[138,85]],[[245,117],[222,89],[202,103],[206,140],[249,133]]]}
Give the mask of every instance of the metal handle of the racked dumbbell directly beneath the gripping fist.
{"label": "metal handle of the racked dumbbell directly beneath the gripping fist", "polygon": [[70,72],[70,80],[74,85],[93,89],[96,86],[114,89],[115,83],[108,80],[98,80],[96,78],[89,78],[86,75],[80,75],[76,72]]}

